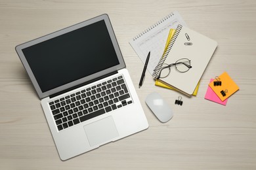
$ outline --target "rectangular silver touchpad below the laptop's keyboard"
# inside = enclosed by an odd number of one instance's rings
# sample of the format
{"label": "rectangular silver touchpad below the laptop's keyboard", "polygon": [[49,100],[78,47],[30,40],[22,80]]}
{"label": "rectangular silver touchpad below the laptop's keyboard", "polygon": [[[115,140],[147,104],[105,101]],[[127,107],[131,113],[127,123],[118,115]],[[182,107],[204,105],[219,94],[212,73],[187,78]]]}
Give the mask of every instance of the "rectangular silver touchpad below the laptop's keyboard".
{"label": "rectangular silver touchpad below the laptop's keyboard", "polygon": [[83,128],[91,146],[104,143],[119,136],[112,116],[88,124]]}

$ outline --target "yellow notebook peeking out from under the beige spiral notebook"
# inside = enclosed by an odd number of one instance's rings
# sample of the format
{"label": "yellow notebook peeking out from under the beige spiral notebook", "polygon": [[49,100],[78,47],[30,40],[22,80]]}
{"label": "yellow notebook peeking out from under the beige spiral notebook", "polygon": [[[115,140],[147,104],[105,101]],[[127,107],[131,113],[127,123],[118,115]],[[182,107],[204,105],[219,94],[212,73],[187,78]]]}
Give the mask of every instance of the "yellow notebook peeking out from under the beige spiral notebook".
{"label": "yellow notebook peeking out from under the beige spiral notebook", "polygon": [[[175,29],[170,29],[169,35],[168,35],[168,38],[167,38],[167,41],[166,41],[166,43],[165,43],[165,51],[167,50],[168,44],[169,44],[169,42],[171,41],[171,37],[173,37],[174,33],[175,33]],[[189,39],[189,40],[190,40],[190,37],[188,37],[188,34],[186,33],[185,35],[186,35],[186,39]],[[165,52],[163,52],[163,54],[165,54]],[[162,57],[163,57],[163,56],[162,56]],[[193,92],[192,95],[194,95],[194,96],[197,95],[197,93],[198,93],[198,88],[199,88],[199,84],[200,84],[200,81],[198,82],[198,85],[196,86],[196,89],[194,90],[194,92]],[[162,83],[161,81],[159,81],[158,79],[156,79],[155,85],[156,85],[156,86],[163,87],[163,88],[168,88],[168,89],[170,89],[170,90],[175,90],[175,88],[172,88],[171,86],[167,86],[167,84],[163,84],[163,83]]]}

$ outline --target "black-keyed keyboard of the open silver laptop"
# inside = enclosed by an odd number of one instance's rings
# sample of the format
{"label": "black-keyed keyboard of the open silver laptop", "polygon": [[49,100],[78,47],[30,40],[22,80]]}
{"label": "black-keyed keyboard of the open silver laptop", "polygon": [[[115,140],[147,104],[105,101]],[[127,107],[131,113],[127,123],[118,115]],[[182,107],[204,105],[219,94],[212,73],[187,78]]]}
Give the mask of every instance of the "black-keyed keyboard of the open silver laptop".
{"label": "black-keyed keyboard of the open silver laptop", "polygon": [[61,131],[131,103],[131,95],[121,75],[55,99],[49,105],[56,126]]}

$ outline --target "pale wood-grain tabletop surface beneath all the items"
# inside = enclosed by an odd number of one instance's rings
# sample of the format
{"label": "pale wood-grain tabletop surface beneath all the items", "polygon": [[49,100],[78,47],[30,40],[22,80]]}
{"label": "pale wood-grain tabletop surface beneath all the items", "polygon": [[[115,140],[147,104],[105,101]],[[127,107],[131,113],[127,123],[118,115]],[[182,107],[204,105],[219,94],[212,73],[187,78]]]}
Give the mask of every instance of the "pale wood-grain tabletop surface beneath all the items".
{"label": "pale wood-grain tabletop surface beneath all the items", "polygon": [[[138,88],[143,64],[129,41],[178,10],[191,29],[218,42],[197,97],[154,86]],[[39,98],[14,47],[100,14],[110,16],[150,127],[68,161],[58,157]],[[256,169],[256,1],[1,0],[0,169]],[[204,99],[224,71],[240,90],[226,107]],[[144,103],[159,92],[173,109],[161,124]]]}

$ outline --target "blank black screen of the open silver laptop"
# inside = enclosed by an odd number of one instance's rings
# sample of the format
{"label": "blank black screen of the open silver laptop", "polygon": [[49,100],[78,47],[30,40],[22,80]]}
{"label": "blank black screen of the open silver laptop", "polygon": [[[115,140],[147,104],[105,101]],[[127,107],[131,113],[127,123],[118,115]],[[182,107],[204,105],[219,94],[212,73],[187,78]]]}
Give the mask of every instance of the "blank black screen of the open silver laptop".
{"label": "blank black screen of the open silver laptop", "polygon": [[42,92],[119,64],[104,20],[22,49]]}

